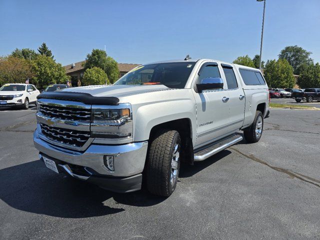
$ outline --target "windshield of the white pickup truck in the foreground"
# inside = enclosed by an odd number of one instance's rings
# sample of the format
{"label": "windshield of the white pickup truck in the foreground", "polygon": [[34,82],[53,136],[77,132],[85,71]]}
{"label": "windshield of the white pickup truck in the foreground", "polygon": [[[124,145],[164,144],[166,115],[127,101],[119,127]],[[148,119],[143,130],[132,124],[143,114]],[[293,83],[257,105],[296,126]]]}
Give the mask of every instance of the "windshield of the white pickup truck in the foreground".
{"label": "windshield of the white pickup truck in the foreground", "polygon": [[163,84],[170,88],[184,88],[195,62],[154,63],[133,68],[114,85]]}

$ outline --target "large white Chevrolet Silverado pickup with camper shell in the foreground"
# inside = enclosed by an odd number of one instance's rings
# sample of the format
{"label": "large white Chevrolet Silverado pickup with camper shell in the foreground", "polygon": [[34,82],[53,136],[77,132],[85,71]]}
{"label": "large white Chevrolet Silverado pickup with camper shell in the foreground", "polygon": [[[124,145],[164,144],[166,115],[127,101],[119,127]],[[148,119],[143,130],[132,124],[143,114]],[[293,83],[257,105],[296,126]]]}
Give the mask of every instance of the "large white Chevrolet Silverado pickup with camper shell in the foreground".
{"label": "large white Chevrolet Silverado pickup with camper shell in the foreground", "polygon": [[257,142],[268,113],[258,69],[211,59],[137,66],[112,85],[37,98],[35,147],[53,171],[129,192],[169,196],[180,163],[202,161],[242,139]]}

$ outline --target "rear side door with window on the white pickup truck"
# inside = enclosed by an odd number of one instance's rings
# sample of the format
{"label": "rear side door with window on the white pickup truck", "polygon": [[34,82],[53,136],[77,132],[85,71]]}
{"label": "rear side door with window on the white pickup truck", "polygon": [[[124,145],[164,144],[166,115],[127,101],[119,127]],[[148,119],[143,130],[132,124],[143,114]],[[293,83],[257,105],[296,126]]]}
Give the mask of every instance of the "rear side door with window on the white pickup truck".
{"label": "rear side door with window on the white pickup truck", "polygon": [[229,124],[230,130],[238,130],[241,128],[244,120],[245,96],[240,83],[236,78],[234,69],[231,65],[221,64],[223,77],[227,83],[229,95]]}

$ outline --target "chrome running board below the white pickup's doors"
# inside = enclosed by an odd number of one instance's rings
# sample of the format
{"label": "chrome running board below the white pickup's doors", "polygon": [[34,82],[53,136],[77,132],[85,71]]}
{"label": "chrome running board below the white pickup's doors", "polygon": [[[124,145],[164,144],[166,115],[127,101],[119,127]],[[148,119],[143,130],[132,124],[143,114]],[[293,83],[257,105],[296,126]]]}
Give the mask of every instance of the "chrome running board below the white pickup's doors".
{"label": "chrome running board below the white pickup's doors", "polygon": [[241,135],[231,135],[224,137],[218,141],[214,141],[205,146],[194,150],[194,161],[202,161],[215,153],[224,150],[225,148],[242,140]]}

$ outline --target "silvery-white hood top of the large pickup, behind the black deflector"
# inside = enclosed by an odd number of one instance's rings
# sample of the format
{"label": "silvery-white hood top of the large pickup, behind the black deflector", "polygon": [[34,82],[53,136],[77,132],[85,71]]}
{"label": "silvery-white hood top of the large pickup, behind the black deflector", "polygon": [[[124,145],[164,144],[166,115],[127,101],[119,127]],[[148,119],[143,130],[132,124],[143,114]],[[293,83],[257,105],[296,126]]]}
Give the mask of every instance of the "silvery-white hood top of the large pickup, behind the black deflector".
{"label": "silvery-white hood top of the large pickup, behind the black deflector", "polygon": [[115,96],[141,94],[152,91],[169,90],[165,85],[95,85],[64,88],[60,91],[89,93],[92,96]]}

